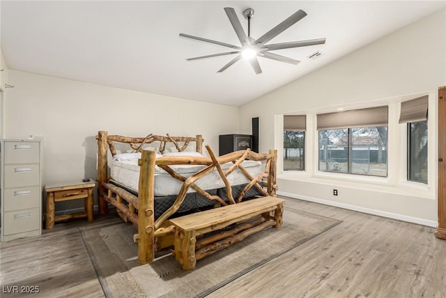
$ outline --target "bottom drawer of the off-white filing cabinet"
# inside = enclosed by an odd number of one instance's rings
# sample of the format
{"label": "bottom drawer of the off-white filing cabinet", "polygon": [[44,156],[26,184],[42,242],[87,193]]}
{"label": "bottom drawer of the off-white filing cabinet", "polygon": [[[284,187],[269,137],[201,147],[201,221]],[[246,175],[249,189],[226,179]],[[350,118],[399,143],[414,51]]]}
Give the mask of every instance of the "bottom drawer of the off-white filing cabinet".
{"label": "bottom drawer of the off-white filing cabinet", "polygon": [[17,234],[40,229],[40,208],[5,212],[3,234]]}

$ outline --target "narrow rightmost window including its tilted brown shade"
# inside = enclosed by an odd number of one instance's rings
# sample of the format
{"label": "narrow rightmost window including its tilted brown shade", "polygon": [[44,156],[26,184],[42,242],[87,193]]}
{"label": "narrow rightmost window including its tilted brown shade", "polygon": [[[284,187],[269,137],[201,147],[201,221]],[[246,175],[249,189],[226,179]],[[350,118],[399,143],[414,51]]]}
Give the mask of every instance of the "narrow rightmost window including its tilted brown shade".
{"label": "narrow rightmost window including its tilted brown shade", "polygon": [[429,97],[401,103],[399,123],[407,123],[407,179],[427,184],[427,112]]}

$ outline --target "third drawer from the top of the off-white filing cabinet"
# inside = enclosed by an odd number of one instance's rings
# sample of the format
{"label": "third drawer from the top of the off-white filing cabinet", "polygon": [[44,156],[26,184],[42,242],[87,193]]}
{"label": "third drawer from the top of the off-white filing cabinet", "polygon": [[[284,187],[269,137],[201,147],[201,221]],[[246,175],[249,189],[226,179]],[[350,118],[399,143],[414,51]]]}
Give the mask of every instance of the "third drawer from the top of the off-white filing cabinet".
{"label": "third drawer from the top of the off-white filing cabinet", "polygon": [[29,209],[40,206],[40,189],[38,186],[4,189],[5,211]]}

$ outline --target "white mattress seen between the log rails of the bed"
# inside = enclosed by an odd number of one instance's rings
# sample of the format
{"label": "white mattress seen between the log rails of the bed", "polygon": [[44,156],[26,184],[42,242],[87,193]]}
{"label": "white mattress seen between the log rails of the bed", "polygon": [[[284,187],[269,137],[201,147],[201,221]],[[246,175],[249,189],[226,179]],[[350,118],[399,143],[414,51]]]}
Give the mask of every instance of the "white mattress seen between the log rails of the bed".
{"label": "white mattress seen between the log rails of the bed", "polygon": [[[222,169],[228,169],[233,163],[224,163]],[[260,161],[243,161],[241,164],[249,174],[256,177],[263,172],[265,166]],[[178,172],[178,174],[184,177],[190,177],[192,174],[198,172],[205,165],[171,165],[171,167]],[[139,184],[139,165],[138,160],[132,161],[113,161],[112,170],[110,173],[112,179],[119,184],[123,184],[133,191],[138,191]],[[236,169],[227,177],[231,185],[247,184],[249,180],[245,177],[245,174]],[[224,182],[220,178],[217,170],[210,172],[204,177],[201,177],[196,181],[197,186],[203,190],[222,188]],[[178,195],[183,182],[178,181],[170,174],[162,170],[162,168],[155,166],[155,196],[161,195]],[[194,192],[192,188],[189,188],[188,193]]]}

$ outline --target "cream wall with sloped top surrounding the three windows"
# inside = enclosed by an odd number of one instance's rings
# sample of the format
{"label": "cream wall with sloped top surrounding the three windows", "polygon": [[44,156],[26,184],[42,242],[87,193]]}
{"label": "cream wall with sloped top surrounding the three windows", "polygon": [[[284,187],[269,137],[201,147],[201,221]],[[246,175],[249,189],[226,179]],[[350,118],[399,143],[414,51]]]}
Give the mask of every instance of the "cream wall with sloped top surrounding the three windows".
{"label": "cream wall with sloped top surrounding the three windows", "polygon": [[[446,84],[445,11],[410,24],[240,107],[240,131],[249,131],[251,118],[259,117],[260,150],[277,147],[279,154],[282,114],[309,115],[307,172],[279,174],[279,193],[427,225],[436,224],[436,98],[438,87]],[[429,186],[402,181],[404,130],[394,122],[399,102],[410,98],[410,94],[429,94]],[[339,177],[318,172],[315,114],[335,112],[337,107],[348,109],[382,103],[390,105],[390,121],[393,121],[389,126],[389,177],[356,179],[354,175]],[[337,197],[332,195],[333,188],[339,190]]]}

